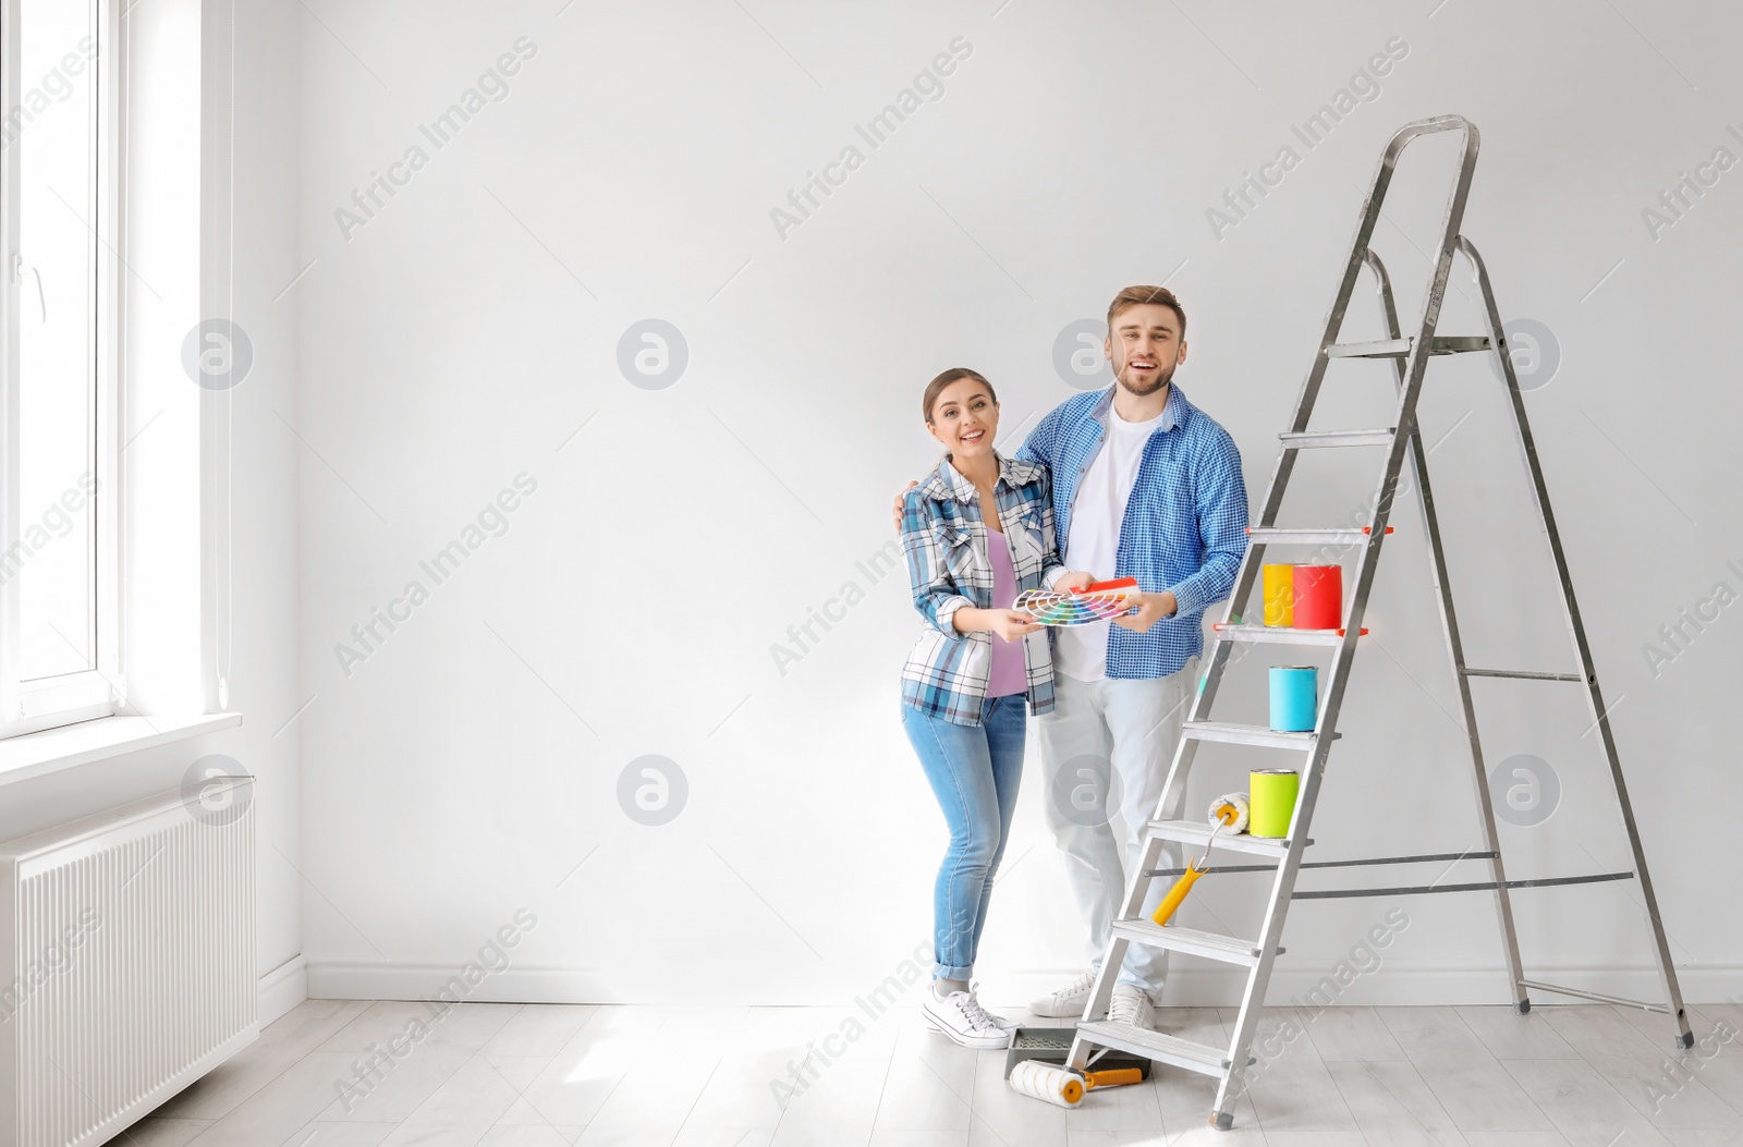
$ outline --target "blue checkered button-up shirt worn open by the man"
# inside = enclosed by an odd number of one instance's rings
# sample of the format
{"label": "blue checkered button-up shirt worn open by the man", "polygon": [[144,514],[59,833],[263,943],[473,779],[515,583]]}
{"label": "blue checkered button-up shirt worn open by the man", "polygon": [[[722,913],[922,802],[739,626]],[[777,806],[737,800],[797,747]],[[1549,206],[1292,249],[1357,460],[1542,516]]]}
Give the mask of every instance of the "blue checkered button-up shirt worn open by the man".
{"label": "blue checkered button-up shirt worn open by the man", "polygon": [[[1102,450],[1114,387],[1060,403],[1041,420],[1016,457],[1053,471],[1053,514],[1065,553],[1072,502],[1089,464]],[[1119,528],[1112,574],[1136,577],[1145,593],[1173,591],[1173,617],[1149,633],[1109,626],[1107,675],[1156,678],[1178,673],[1204,648],[1204,608],[1229,596],[1246,554],[1246,483],[1234,439],[1210,415],[1170,383],[1157,429],[1143,445],[1138,478]],[[1051,582],[1049,582],[1051,584]]]}

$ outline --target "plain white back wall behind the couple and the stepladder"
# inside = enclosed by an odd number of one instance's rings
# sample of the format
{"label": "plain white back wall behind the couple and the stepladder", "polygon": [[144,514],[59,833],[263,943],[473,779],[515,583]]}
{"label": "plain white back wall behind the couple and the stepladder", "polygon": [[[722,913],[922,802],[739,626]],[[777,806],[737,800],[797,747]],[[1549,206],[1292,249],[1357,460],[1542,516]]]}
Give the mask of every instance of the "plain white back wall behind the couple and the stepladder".
{"label": "plain white back wall behind the couple and the stepladder", "polygon": [[[1726,45],[1743,26],[1720,3],[1675,17],[1623,3],[1628,19],[1570,0],[1431,7],[542,0],[305,16],[295,261],[317,261],[295,291],[300,696],[315,701],[296,730],[312,992],[432,992],[519,906],[537,927],[479,997],[802,1002],[873,987],[929,934],[945,840],[896,713],[917,628],[905,580],[861,570],[891,540],[892,492],[934,457],[924,382],[980,368],[1021,432],[1074,394],[1053,366],[1060,331],[1171,275],[1190,317],[1178,382],[1234,434],[1257,500],[1379,152],[1447,112],[1485,132],[1466,234],[1502,312],[1560,343],[1529,406],[1673,950],[1692,997],[1734,992],[1743,926],[1715,905],[1734,901],[1724,873],[1743,845],[1717,811],[1743,798],[1724,732],[1743,607],[1658,675],[1642,643],[1715,582],[1743,589],[1726,567],[1743,567],[1729,441],[1743,403],[1722,335],[1743,171],[1656,237],[1642,209],[1717,146],[1743,157],[1726,132],[1740,106]],[[537,54],[507,96],[437,148],[420,127],[518,37]],[[854,126],[955,37],[973,54],[943,98],[872,150]],[[1408,54],[1379,96],[1309,150],[1290,127],[1394,37]],[[849,145],[863,166],[779,234],[770,209]],[[1300,164],[1218,237],[1206,211],[1285,145]],[[413,146],[427,162],[363,221],[354,190]],[[1407,316],[1428,268],[1412,244],[1443,199],[1436,146],[1412,155],[1379,235]],[[1441,329],[1475,331],[1457,274]],[[1373,329],[1367,291],[1353,316]],[[688,347],[657,390],[617,364],[648,317]],[[1335,368],[1316,425],[1384,425],[1387,370]],[[1436,363],[1422,422],[1431,441],[1452,431],[1434,465],[1473,664],[1569,666],[1489,366]],[[1314,462],[1288,521],[1367,504],[1370,455]],[[507,532],[436,584],[420,560],[523,472],[537,492]],[[1314,825],[1325,858],[1478,840],[1414,509],[1396,525]],[[356,643],[350,628],[413,580],[429,600]],[[772,645],[847,582],[865,600],[781,671]],[[340,643],[364,657],[342,664]],[[1222,713],[1258,720],[1272,659],[1239,668]],[[1480,683],[1478,702],[1490,760],[1536,755],[1563,790],[1544,825],[1508,830],[1511,875],[1626,866],[1577,697]],[[619,804],[643,755],[687,779],[662,826]],[[1257,760],[1206,750],[1189,804],[1239,788]],[[992,999],[1079,960],[1037,776],[983,941]],[[1236,880],[1199,886],[1185,920],[1253,927],[1262,887]],[[1518,894],[1530,967],[1654,992],[1633,894]],[[1482,896],[1299,905],[1278,995],[1396,903],[1412,924],[1360,997],[1502,999]]]}

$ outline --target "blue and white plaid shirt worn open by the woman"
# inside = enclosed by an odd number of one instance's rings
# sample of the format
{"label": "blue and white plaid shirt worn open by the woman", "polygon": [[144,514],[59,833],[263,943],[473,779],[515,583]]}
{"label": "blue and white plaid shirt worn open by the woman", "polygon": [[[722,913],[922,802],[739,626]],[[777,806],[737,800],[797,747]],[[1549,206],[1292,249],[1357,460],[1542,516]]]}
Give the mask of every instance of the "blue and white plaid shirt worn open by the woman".
{"label": "blue and white plaid shirt worn open by the woman", "polygon": [[[1048,467],[1000,457],[994,499],[1004,525],[999,544],[1011,546],[1018,593],[1042,589],[1063,568],[1053,540]],[[901,549],[908,558],[913,608],[926,619],[926,629],[901,668],[901,699],[952,725],[981,723],[992,643],[1000,640],[985,631],[957,633],[952,622],[964,605],[992,608],[988,540],[980,493],[948,460],[903,495]],[[1046,633],[1023,638],[1023,661],[1030,709],[1051,713],[1053,648]]]}

